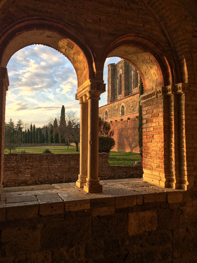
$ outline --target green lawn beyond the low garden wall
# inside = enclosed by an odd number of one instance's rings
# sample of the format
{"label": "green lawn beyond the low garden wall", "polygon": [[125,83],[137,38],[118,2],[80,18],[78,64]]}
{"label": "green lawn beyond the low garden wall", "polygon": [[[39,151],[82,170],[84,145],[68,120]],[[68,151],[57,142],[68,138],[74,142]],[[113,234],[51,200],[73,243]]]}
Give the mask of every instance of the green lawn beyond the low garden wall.
{"label": "green lawn beyond the low garden wall", "polygon": [[[51,153],[78,153],[75,151],[75,146],[69,146],[68,149],[67,147],[68,146],[21,146],[18,147],[16,151],[24,149],[26,153],[43,153],[44,149],[49,149]],[[8,154],[9,151],[7,150],[4,153]],[[110,165],[132,165],[140,160],[141,157],[138,153],[111,151],[109,156]]]}

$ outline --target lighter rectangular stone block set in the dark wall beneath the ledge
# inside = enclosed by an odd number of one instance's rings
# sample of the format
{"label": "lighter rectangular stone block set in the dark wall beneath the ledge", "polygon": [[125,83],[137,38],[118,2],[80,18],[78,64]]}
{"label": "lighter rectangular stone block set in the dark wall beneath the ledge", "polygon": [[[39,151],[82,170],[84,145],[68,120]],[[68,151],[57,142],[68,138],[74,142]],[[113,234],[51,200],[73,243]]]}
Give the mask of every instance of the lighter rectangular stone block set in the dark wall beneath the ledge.
{"label": "lighter rectangular stone block set in the dark wall beneath the ledge", "polygon": [[157,212],[143,211],[129,213],[128,215],[128,233],[136,235],[145,231],[157,229]]}

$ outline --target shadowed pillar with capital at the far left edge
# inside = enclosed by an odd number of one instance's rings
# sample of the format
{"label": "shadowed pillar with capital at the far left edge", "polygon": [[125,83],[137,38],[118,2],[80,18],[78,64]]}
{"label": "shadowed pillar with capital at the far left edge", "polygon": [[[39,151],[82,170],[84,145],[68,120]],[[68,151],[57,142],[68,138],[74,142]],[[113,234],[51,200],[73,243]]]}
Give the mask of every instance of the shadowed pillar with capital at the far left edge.
{"label": "shadowed pillar with capital at the far left edge", "polygon": [[4,160],[4,135],[5,135],[5,112],[6,112],[6,91],[8,90],[9,79],[7,68],[0,68],[0,200],[3,194],[3,160]]}

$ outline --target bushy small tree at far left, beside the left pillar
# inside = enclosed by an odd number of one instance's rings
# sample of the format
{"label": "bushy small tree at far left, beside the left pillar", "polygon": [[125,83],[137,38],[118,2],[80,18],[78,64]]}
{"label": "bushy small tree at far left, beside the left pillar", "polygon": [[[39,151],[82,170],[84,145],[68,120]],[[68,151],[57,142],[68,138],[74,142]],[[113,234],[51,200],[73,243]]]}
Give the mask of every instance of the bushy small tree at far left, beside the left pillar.
{"label": "bushy small tree at far left, beside the left pillar", "polygon": [[11,153],[11,150],[15,151],[19,146],[21,146],[21,133],[15,133],[14,122],[10,118],[9,122],[5,123],[4,149],[8,149]]}

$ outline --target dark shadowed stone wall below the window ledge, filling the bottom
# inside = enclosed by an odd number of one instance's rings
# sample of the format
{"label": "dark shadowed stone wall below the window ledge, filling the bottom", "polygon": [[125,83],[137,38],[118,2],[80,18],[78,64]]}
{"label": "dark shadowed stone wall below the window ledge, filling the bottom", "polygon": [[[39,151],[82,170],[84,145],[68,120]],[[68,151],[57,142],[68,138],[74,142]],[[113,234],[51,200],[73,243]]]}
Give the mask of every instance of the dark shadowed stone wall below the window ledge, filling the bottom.
{"label": "dark shadowed stone wall below the window ledge, filling the bottom", "polygon": [[191,191],[89,196],[1,208],[1,263],[196,262]]}

